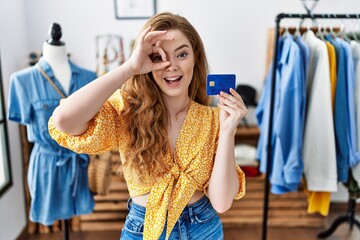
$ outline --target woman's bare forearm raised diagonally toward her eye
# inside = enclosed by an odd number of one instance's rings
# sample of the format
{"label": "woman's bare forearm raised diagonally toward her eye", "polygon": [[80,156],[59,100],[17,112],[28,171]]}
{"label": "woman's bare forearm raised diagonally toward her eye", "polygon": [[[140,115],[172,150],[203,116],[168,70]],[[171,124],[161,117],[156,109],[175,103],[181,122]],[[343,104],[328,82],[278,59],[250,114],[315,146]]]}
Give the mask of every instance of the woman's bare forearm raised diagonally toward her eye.
{"label": "woman's bare forearm raised diagonally toward her eye", "polygon": [[72,135],[84,133],[106,100],[133,75],[134,71],[126,62],[77,90],[53,112],[54,125]]}

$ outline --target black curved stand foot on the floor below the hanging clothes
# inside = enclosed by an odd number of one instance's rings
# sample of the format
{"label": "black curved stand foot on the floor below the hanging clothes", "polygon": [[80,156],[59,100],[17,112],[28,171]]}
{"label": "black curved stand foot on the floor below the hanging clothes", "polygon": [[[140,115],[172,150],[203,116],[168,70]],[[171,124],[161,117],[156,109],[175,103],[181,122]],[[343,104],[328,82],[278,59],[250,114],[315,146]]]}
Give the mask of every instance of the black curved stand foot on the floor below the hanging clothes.
{"label": "black curved stand foot on the floor below the hanging clothes", "polygon": [[354,224],[360,229],[360,222],[355,217],[356,217],[356,197],[350,196],[346,215],[336,218],[335,221],[329,227],[329,229],[319,233],[318,238],[327,238],[343,222],[349,223],[350,231],[352,231]]}

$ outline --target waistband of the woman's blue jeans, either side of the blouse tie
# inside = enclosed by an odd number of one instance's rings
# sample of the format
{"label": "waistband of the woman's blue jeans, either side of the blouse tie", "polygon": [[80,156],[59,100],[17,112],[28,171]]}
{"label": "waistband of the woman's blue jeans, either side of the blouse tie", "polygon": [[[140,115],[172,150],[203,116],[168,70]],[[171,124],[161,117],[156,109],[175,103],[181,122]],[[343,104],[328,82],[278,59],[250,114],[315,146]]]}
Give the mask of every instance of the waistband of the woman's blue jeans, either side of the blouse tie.
{"label": "waistband of the woman's blue jeans, either side of the blouse tie", "polygon": [[[131,210],[130,212],[136,213],[138,217],[145,218],[145,207],[134,203],[131,198],[128,199],[127,205],[129,211]],[[192,217],[192,215],[196,215],[208,207],[211,207],[211,203],[209,199],[204,195],[198,201],[186,205],[183,212],[181,213],[180,218]]]}

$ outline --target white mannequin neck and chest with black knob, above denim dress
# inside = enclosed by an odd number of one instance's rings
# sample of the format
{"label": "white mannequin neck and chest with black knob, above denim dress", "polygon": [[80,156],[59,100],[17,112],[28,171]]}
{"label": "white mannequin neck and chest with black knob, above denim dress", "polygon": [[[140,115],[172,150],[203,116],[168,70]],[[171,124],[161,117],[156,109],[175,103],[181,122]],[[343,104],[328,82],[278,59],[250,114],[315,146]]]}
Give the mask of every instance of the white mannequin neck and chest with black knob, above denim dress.
{"label": "white mannequin neck and chest with black knob, above denim dress", "polygon": [[62,36],[60,25],[53,23],[50,26],[49,35],[50,38],[43,44],[43,58],[50,65],[55,78],[65,90],[65,94],[68,94],[71,80],[71,68],[65,43],[60,41]]}

